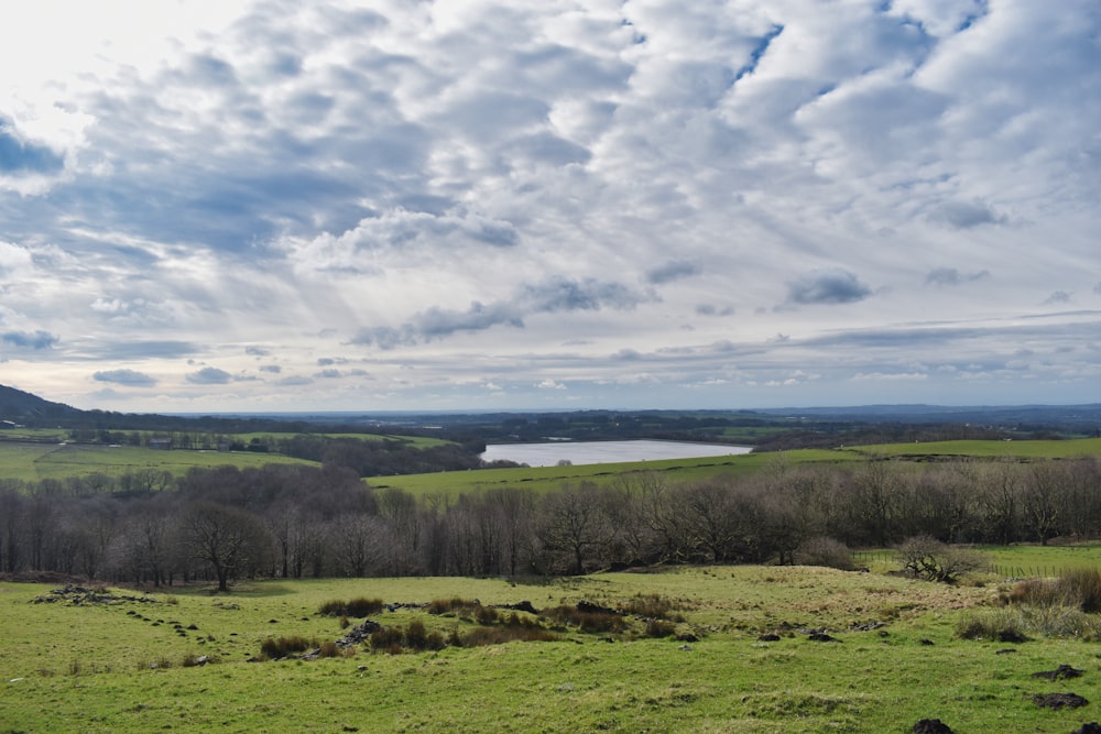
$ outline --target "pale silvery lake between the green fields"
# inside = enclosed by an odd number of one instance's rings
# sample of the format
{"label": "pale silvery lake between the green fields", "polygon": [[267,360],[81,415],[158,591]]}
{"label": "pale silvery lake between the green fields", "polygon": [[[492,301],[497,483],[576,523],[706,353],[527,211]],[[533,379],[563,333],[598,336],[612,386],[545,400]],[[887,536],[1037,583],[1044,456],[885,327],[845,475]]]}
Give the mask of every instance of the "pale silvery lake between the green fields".
{"label": "pale silvery lake between the green fields", "polygon": [[486,461],[515,461],[530,467],[554,467],[560,461],[571,464],[599,464],[618,461],[654,461],[657,459],[693,459],[749,453],[749,446],[729,443],[693,443],[690,441],[550,441],[547,443],[493,443],[486,447]]}

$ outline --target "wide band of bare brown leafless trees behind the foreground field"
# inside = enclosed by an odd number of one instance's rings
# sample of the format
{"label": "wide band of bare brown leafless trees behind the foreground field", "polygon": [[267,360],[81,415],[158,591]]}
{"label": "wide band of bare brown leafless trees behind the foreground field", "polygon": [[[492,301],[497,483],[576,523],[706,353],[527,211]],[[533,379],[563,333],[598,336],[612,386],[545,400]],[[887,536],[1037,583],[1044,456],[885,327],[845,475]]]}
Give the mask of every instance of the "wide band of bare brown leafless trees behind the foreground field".
{"label": "wide band of bare brown leafless trees behind the foreground field", "polygon": [[[163,479],[163,478],[162,478]],[[1101,461],[792,464],[547,494],[417,497],[347,468],[194,470],[127,493],[0,485],[0,571],[154,585],[249,577],[522,576],[816,561],[824,547],[1101,537]],[[445,480],[446,481],[446,480]]]}

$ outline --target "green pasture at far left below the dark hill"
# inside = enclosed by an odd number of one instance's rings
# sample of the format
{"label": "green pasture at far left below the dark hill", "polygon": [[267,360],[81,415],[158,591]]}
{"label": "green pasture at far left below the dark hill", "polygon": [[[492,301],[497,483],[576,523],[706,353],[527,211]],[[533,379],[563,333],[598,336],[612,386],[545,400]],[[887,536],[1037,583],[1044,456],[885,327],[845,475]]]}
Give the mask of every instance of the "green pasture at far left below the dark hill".
{"label": "green pasture at far left below the dark hill", "polygon": [[95,443],[0,442],[0,478],[23,481],[63,480],[102,473],[117,476],[142,470],[178,475],[193,468],[232,464],[239,468],[270,463],[317,465],[313,461],[248,451],[189,451],[110,447]]}

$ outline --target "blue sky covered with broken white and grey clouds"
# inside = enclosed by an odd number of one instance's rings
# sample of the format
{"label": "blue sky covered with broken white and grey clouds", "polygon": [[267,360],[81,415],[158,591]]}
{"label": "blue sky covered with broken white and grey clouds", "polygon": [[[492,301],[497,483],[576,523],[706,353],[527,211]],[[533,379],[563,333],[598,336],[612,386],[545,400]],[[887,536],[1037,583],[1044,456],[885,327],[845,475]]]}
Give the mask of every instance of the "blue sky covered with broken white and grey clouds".
{"label": "blue sky covered with broken white and grey clouds", "polygon": [[124,413],[1101,402],[1097,0],[35,0],[0,384]]}

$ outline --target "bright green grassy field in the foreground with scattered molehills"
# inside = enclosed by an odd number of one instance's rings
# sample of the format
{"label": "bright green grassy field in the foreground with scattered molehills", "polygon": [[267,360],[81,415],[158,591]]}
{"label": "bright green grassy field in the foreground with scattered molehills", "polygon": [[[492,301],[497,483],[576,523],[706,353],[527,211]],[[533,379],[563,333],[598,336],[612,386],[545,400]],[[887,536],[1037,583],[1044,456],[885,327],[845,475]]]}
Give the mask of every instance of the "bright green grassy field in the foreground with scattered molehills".
{"label": "bright green grassy field in the foreground with scattered molehills", "polygon": [[[31,603],[51,589],[0,584],[6,730],[880,733],[937,717],[957,732],[1012,733],[1070,732],[1098,717],[1097,703],[1055,711],[1029,699],[1067,691],[1097,698],[1095,644],[953,637],[958,616],[990,602],[996,584],[717,567],[532,584],[271,581],[222,595],[176,589],[152,601]],[[629,617],[622,633],[567,628],[560,642],[400,655],[359,646],[351,657],[247,661],[271,636],[338,638],[337,620],[317,614],[334,599],[461,596],[486,605],[528,600],[543,609],[582,600],[615,607],[640,594],[671,601],[684,617],[676,632],[699,639],[646,638],[642,623]],[[422,621],[443,634],[478,627],[419,609],[372,618],[386,626]],[[813,642],[811,628],[840,642]],[[778,639],[759,639],[773,632]],[[1016,651],[998,654],[1007,647]],[[185,658],[201,655],[217,661],[184,667]],[[1032,677],[1058,665],[1084,677]]]}

